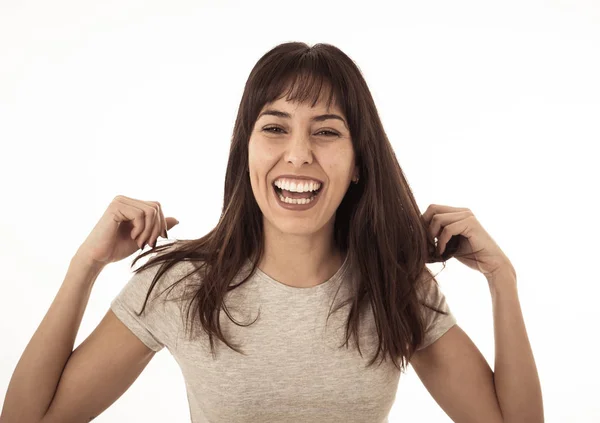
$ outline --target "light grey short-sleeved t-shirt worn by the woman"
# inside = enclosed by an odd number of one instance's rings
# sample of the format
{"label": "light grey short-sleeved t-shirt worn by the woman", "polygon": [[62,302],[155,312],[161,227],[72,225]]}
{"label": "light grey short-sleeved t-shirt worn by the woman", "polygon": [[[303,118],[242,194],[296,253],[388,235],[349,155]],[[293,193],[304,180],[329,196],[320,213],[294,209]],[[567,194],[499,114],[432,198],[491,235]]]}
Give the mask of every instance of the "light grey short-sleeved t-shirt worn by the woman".
{"label": "light grey short-sleeved t-shirt worn by the woman", "polygon": [[[249,265],[249,262],[247,266]],[[246,355],[231,350],[216,337],[216,359],[210,351],[208,335],[196,330],[200,338],[185,336],[185,308],[171,301],[183,293],[181,282],[169,294],[173,282],[195,269],[197,264],[179,262],[165,273],[154,287],[142,316],[146,293],[160,266],[134,274],[111,302],[117,317],[149,348],[167,347],[181,367],[186,383],[193,423],[242,422],[345,422],[387,423],[396,397],[400,372],[388,359],[366,368],[376,351],[377,331],[373,314],[365,314],[360,325],[360,356],[351,337],[348,348],[345,322],[350,305],[325,320],[335,297],[335,305],[349,297],[347,262],[326,282],[296,288],[269,277],[260,269],[246,283],[230,291],[226,304],[232,317],[250,326],[237,326],[221,310],[220,323],[230,342],[239,344]],[[232,282],[247,275],[244,268]],[[194,274],[197,276],[198,274]],[[197,277],[192,279],[197,282]],[[456,323],[443,293],[437,285],[428,295],[428,304],[449,315],[429,309],[425,342],[433,343]],[[154,300],[161,292],[161,298]],[[346,294],[347,296],[344,296]],[[164,302],[165,295],[169,301]],[[380,365],[379,365],[380,364]]]}

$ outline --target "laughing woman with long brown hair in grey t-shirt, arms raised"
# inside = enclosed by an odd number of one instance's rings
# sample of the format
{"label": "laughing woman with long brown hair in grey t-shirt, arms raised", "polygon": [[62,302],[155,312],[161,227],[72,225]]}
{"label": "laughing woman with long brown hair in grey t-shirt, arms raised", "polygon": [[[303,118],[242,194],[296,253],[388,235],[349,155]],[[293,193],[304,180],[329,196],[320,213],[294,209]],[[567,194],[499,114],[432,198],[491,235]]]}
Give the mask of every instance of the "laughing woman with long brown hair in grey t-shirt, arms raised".
{"label": "laughing woman with long brown hair in grey t-shirt, arms raised", "polygon": [[[165,346],[194,422],[386,422],[408,363],[456,422],[543,421],[514,268],[469,209],[420,214],[339,49],[286,43],[258,61],[219,223],[157,247],[176,223],[158,202],[111,202],[23,353],[2,423],[89,421]],[[156,255],[72,351],[98,274],[146,243],[134,264]],[[496,373],[425,266],[452,255],[488,280]]]}

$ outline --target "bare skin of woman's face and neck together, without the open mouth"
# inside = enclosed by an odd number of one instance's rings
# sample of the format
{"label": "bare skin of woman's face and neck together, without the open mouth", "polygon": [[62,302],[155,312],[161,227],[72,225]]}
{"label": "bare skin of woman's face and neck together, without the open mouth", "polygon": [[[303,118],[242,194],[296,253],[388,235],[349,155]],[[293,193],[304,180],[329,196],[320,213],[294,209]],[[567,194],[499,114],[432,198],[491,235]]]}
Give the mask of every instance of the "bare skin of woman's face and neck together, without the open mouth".
{"label": "bare skin of woman's face and neck together, without the open mouth", "polygon": [[[342,265],[344,257],[333,243],[335,212],[359,176],[344,114],[334,105],[327,109],[324,101],[310,106],[285,99],[265,105],[261,113],[275,109],[290,118],[259,113],[248,145],[249,177],[263,213],[265,254],[259,267],[294,287],[318,285]],[[322,114],[339,115],[344,122],[311,120]],[[282,208],[272,182],[283,174],[323,181],[318,203],[306,211]]]}

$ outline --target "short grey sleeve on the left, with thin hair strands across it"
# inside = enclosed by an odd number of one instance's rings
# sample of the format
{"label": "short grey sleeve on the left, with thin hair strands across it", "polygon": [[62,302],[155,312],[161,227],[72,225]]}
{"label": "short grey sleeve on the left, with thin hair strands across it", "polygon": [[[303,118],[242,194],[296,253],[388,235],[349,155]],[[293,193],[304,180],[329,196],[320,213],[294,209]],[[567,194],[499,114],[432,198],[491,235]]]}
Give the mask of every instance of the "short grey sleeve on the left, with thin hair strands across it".
{"label": "short grey sleeve on the left, with thin hair strands across it", "polygon": [[[119,320],[155,352],[172,345],[178,333],[180,316],[179,307],[168,295],[170,289],[166,289],[174,282],[167,283],[170,281],[170,271],[161,275],[148,297],[144,312],[137,315],[142,310],[148,289],[160,267],[157,264],[134,273],[110,304],[110,309]],[[169,300],[165,301],[167,295]]]}

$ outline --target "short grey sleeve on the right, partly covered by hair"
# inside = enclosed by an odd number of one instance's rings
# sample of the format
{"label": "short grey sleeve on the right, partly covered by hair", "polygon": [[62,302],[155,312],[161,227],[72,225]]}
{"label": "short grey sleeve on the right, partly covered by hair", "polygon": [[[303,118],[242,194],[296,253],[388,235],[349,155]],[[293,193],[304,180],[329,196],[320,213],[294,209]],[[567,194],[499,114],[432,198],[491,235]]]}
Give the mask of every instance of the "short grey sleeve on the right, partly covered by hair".
{"label": "short grey sleeve on the right, partly covered by hair", "polygon": [[425,303],[438,310],[442,310],[447,314],[438,313],[428,307],[421,306],[421,309],[425,314],[425,337],[422,344],[417,347],[417,351],[433,344],[457,323],[456,316],[452,314],[450,306],[446,301],[446,297],[439,285],[432,280],[427,282],[427,287],[428,290]]}

